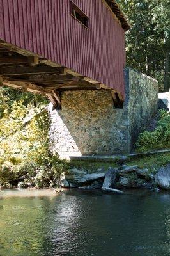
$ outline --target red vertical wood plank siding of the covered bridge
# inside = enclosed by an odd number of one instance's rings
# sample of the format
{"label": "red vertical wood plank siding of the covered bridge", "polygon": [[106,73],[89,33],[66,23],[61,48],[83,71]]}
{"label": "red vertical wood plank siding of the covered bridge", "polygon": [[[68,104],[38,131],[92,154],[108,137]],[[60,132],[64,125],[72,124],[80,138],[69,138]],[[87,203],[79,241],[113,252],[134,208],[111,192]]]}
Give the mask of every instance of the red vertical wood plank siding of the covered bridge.
{"label": "red vertical wood plank siding of the covered bridge", "polygon": [[0,0],[0,38],[125,95],[125,31],[102,0],[73,3],[89,28],[70,15],[70,0]]}

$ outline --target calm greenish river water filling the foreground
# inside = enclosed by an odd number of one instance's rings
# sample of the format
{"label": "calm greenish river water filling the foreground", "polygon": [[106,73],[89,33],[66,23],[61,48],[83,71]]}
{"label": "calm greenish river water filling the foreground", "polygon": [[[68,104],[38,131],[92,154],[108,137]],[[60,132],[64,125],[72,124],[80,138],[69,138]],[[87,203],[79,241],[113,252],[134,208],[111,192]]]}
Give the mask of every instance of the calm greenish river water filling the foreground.
{"label": "calm greenish river water filling the foreground", "polygon": [[167,256],[169,241],[169,193],[0,192],[1,256]]}

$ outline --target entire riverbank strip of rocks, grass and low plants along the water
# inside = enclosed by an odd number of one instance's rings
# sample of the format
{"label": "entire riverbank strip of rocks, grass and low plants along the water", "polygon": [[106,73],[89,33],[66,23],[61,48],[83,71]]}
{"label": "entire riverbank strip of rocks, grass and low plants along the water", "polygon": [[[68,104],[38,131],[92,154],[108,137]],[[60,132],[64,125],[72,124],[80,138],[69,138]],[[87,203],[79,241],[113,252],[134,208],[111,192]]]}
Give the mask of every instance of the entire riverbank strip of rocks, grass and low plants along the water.
{"label": "entire riverbank strip of rocks, grass and low plants along the water", "polygon": [[[70,161],[65,172],[58,176],[52,170],[26,173],[0,184],[0,189],[50,188],[56,192],[63,189],[100,190],[109,193],[123,193],[127,189],[170,189],[169,153],[156,156],[140,156],[133,159],[101,161]],[[162,166],[162,167],[160,167]],[[63,174],[62,174],[63,173]],[[4,177],[5,173],[3,174]],[[10,173],[8,172],[8,175]]]}

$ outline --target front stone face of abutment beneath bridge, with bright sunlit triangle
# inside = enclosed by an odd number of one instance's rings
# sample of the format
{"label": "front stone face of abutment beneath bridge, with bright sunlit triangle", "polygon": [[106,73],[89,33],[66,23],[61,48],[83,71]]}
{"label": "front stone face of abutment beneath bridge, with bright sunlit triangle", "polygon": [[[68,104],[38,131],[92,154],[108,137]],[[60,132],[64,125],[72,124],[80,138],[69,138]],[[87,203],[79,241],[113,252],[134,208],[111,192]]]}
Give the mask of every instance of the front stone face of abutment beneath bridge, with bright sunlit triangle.
{"label": "front stone face of abutment beneath bridge, with bright sunlit triangle", "polygon": [[52,110],[50,137],[62,157],[125,153],[128,145],[127,109],[113,107],[111,90],[66,91],[62,110]]}

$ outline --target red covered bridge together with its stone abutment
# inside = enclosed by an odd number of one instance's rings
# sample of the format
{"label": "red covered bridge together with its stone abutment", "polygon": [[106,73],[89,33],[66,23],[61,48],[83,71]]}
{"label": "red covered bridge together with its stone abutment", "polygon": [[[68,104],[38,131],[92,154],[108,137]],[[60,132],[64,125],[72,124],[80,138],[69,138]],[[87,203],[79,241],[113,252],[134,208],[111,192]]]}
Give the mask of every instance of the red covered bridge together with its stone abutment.
{"label": "red covered bridge together with its stone abutment", "polygon": [[130,25],[116,1],[0,0],[0,24],[0,84],[49,97],[54,151],[130,151],[158,84],[123,73]]}

